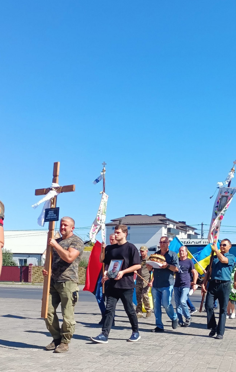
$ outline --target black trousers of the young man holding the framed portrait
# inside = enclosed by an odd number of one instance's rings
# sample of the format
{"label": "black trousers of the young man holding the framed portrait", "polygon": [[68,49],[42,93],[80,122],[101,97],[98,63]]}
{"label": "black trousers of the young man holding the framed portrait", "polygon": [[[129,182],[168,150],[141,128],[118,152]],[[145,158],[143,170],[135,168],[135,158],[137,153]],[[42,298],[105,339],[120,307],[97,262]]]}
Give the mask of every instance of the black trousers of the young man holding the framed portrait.
{"label": "black trousers of the young man holding the framed portrait", "polygon": [[107,288],[106,294],[106,311],[104,315],[104,323],[102,326],[102,333],[106,336],[109,335],[111,330],[112,321],[115,315],[115,307],[117,301],[121,299],[126,314],[128,315],[131,328],[133,332],[138,332],[138,319],[133,307],[133,293],[134,289],[120,289],[120,288]]}

